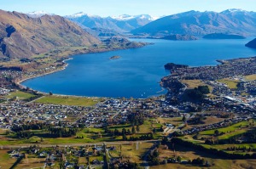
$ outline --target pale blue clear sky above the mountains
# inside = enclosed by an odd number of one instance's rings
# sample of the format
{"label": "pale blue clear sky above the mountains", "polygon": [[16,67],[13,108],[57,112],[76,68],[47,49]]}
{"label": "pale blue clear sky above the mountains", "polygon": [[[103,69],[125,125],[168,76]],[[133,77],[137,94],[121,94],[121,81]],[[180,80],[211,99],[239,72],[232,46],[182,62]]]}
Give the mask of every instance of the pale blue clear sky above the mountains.
{"label": "pale blue clear sky above the mountains", "polygon": [[68,15],[84,12],[100,16],[151,14],[162,16],[189,10],[220,12],[227,8],[256,11],[255,0],[0,0],[0,8],[22,13],[43,10]]}

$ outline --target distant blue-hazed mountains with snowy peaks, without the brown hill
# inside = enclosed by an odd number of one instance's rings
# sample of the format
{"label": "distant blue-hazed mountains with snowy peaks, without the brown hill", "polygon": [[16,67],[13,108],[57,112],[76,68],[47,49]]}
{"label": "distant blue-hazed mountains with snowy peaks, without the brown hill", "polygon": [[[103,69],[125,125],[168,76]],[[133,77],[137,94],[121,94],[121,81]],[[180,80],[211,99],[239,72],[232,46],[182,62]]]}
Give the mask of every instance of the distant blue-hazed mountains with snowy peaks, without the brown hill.
{"label": "distant blue-hazed mountains with snowy peaks, without the brown hill", "polygon": [[[34,12],[30,16],[44,14]],[[82,26],[85,30],[104,30],[113,32],[131,32],[134,35],[168,36],[173,34],[202,37],[212,33],[241,36],[256,35],[256,13],[241,9],[227,9],[220,13],[212,11],[188,11],[165,17],[153,17],[148,14],[101,17],[83,12],[65,16]],[[95,31],[93,31],[95,32]]]}

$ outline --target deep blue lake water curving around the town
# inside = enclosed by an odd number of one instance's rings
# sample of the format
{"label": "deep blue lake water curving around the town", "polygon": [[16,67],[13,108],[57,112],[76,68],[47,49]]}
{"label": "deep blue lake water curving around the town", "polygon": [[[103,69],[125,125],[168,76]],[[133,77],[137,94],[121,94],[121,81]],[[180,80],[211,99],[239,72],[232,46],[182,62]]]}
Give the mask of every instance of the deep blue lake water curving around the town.
{"label": "deep blue lake water curving around the town", "polygon": [[[168,41],[133,39],[153,42],[143,48],[131,48],[98,54],[79,54],[68,60],[66,70],[22,82],[22,85],[49,93],[148,98],[166,93],[160,79],[169,74],[166,63],[190,66],[217,65],[216,59],[252,57],[256,49],[244,45],[253,37],[239,40]],[[109,59],[113,55],[120,59]]]}

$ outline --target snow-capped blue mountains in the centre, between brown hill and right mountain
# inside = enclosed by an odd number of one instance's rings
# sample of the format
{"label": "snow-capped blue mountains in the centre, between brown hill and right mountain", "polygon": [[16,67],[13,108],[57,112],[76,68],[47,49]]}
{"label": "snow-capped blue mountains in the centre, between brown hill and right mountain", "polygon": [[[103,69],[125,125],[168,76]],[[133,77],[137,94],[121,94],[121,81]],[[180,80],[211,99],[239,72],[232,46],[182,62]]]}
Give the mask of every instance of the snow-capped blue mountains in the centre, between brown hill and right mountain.
{"label": "snow-capped blue mountains in the centre, between brown hill and right mountain", "polygon": [[120,16],[108,16],[104,18],[96,15],[84,14],[82,12],[68,15],[66,18],[87,28],[103,28],[117,32],[129,32],[157,19],[148,14],[123,14]]}

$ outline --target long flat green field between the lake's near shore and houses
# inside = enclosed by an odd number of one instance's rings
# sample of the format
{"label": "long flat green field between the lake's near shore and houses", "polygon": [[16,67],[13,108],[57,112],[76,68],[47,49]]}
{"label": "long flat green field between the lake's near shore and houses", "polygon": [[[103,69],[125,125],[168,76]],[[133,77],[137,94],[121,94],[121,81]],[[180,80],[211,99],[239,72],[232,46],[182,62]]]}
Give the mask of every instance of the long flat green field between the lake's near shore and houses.
{"label": "long flat green field between the lake's near shore and houses", "polygon": [[63,105],[78,105],[78,106],[92,106],[103,99],[99,98],[83,98],[71,96],[44,96],[37,99],[35,102],[42,104],[63,104]]}

